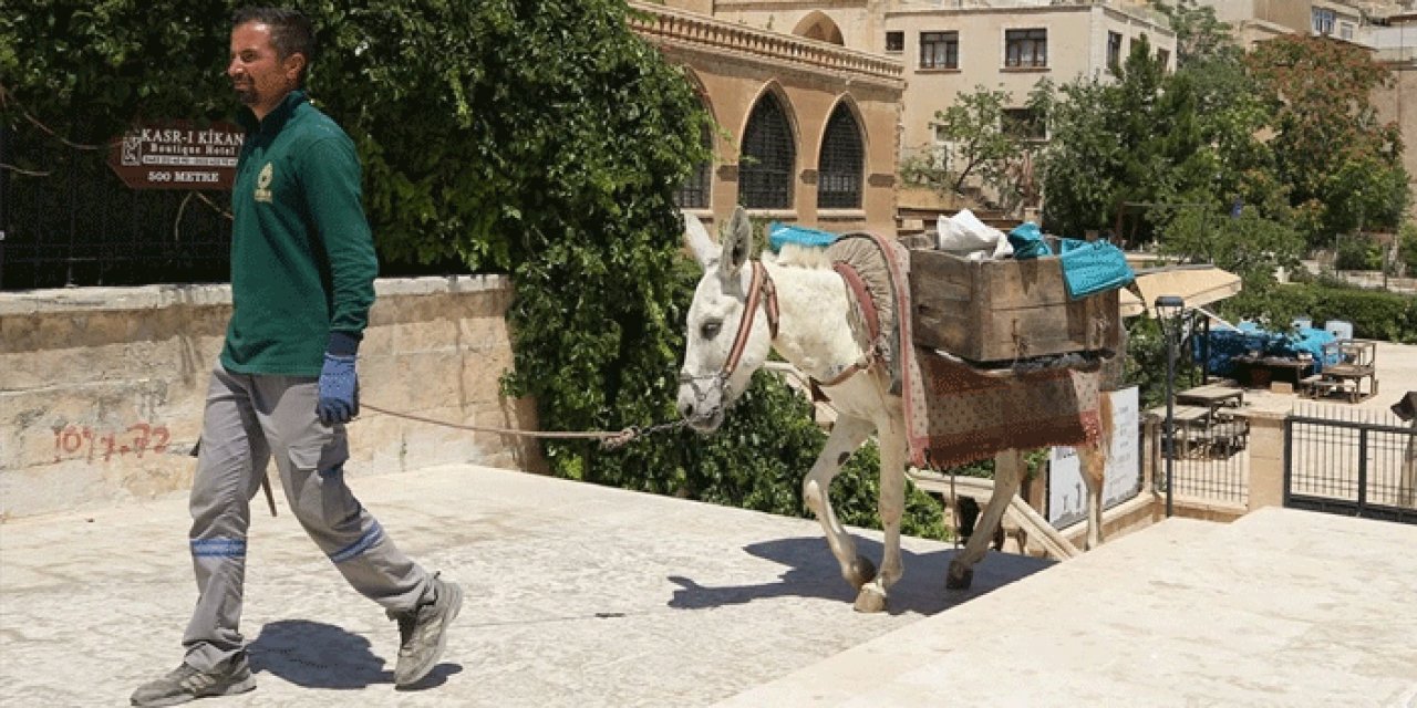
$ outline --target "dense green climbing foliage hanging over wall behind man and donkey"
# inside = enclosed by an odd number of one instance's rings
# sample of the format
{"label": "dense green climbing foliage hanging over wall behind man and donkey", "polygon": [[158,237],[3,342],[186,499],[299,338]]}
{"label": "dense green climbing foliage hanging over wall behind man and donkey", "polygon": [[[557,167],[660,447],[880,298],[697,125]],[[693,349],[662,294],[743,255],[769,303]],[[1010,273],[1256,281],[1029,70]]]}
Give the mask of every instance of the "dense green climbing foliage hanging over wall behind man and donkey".
{"label": "dense green climbing foliage hanging over wall behind man and donkey", "polygon": [[[682,69],[628,28],[625,1],[295,4],[322,47],[310,95],[359,146],[381,258],[510,273],[504,392],[533,396],[550,430],[677,419],[699,268],[682,253],[673,190],[706,157],[708,118]],[[0,120],[21,140],[54,140],[24,112],[65,140],[103,144],[142,116],[228,118],[235,6],[11,0]],[[544,450],[564,477],[801,514],[820,445],[806,404],[760,377],[717,436]],[[871,456],[839,481],[850,523],[879,525]],[[910,532],[938,531],[924,494],[908,514]]]}

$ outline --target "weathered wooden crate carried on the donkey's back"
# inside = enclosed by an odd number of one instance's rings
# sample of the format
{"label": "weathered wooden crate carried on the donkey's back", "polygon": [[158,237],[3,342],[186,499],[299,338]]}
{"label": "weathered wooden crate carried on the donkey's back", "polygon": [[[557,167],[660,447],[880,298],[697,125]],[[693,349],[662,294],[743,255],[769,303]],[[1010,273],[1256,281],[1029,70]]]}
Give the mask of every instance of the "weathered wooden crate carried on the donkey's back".
{"label": "weathered wooden crate carried on the donkey's back", "polygon": [[915,344],[979,362],[1117,351],[1119,290],[1070,300],[1057,256],[968,261],[911,248]]}

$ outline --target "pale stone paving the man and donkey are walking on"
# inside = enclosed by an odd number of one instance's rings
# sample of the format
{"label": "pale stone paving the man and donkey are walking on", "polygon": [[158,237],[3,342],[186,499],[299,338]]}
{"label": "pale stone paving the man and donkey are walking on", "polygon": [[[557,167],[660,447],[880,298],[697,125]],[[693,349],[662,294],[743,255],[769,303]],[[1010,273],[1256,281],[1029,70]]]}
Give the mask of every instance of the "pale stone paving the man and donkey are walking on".
{"label": "pale stone paving the man and donkey are walking on", "polygon": [[[466,589],[442,664],[395,692],[394,624],[258,497],[242,623],[258,688],[198,705],[708,705],[1049,566],[992,555],[947,593],[952,547],[907,538],[893,613],[867,616],[811,520],[475,466],[351,486]],[[0,705],[128,705],[176,667],[187,525],[184,496],[0,524]]]}

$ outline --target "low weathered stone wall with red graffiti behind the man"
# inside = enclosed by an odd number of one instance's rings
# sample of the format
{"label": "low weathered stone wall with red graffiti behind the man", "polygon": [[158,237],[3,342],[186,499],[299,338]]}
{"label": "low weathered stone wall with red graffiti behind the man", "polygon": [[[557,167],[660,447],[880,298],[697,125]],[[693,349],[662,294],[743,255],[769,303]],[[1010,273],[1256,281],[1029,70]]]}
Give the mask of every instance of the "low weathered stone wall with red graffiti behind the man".
{"label": "low weathered stone wall with red graffiti behind the man", "polygon": [[[512,367],[504,278],[385,279],[377,293],[360,348],[361,402],[536,429],[534,405],[497,391]],[[190,487],[230,314],[225,285],[0,295],[0,521]],[[458,462],[544,467],[520,438],[367,409],[350,443],[351,476]]]}

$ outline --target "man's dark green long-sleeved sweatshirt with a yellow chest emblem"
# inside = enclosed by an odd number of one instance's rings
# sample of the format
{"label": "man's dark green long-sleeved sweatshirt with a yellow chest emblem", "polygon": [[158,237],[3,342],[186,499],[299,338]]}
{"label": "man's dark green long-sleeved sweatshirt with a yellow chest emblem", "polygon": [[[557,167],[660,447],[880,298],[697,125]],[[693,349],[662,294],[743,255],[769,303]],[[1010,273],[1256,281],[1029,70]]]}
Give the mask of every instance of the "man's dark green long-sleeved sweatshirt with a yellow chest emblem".
{"label": "man's dark green long-sleeved sweatshirt with a yellow chest emblem", "polygon": [[305,92],[259,123],[249,110],[231,191],[231,302],[221,364],[317,377],[332,331],[356,341],[378,261],[360,202],[354,142]]}

